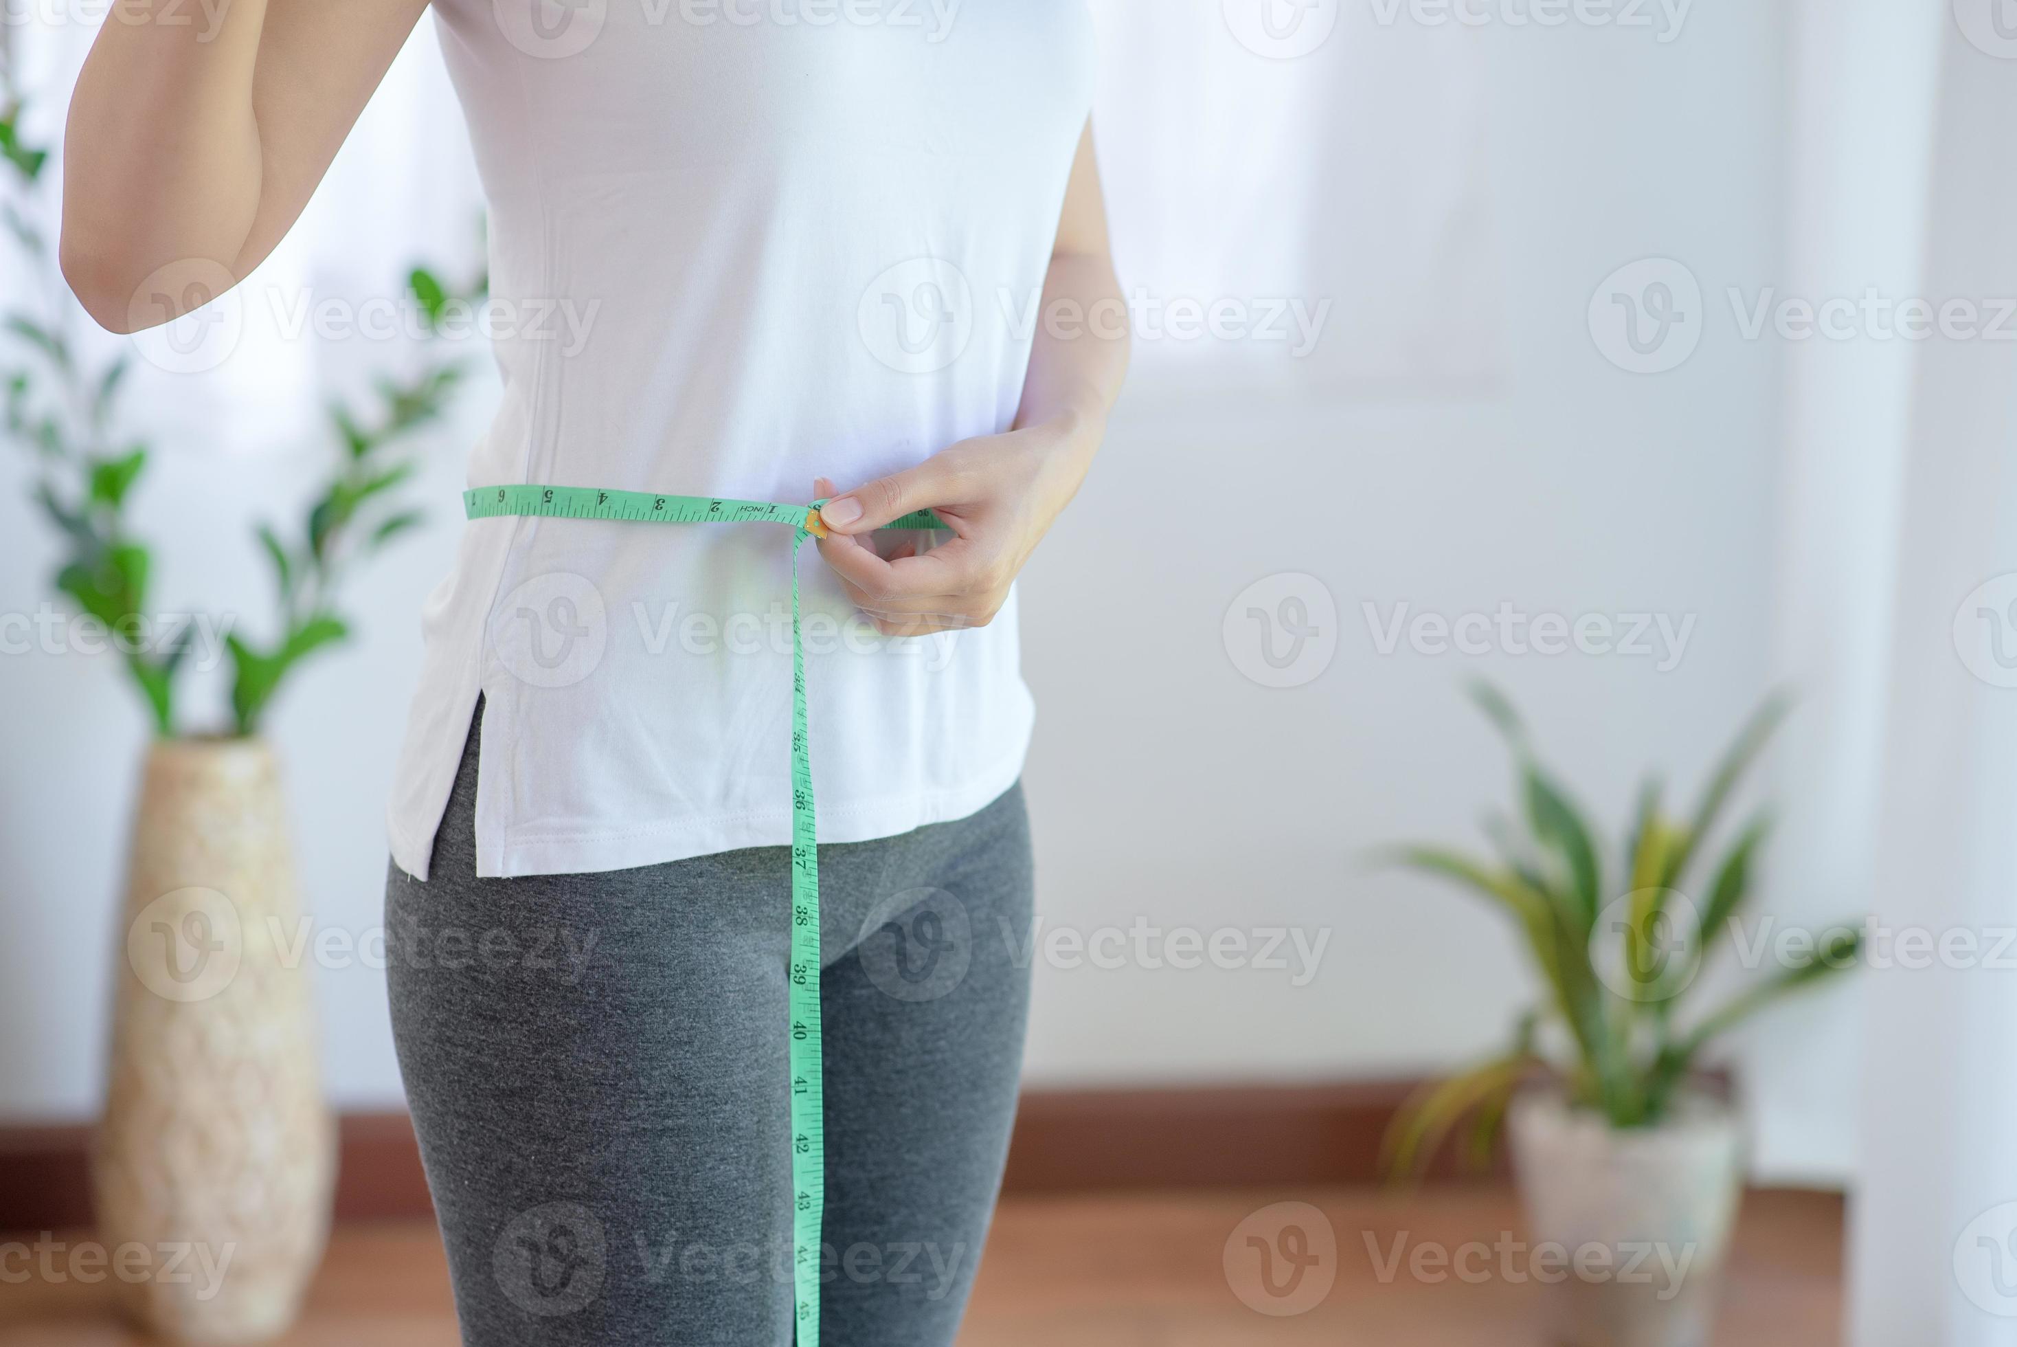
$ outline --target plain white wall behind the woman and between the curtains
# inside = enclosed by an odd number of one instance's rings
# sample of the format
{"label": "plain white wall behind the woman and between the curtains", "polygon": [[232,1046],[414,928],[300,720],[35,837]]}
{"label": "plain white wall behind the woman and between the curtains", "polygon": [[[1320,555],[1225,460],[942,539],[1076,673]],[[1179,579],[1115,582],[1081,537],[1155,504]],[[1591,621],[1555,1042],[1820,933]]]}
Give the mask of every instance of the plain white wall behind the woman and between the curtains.
{"label": "plain white wall behind the woman and between the curtains", "polygon": [[[1644,766],[1692,786],[1765,686],[1777,357],[1739,339],[1721,294],[1765,284],[1779,260],[1777,6],[1696,6],[1670,44],[1575,26],[1476,40],[1505,276],[1476,300],[1507,315],[1503,389],[1462,405],[1136,397],[1025,579],[1047,922],[1329,932],[1317,976],[1041,966],[1037,1083],[1333,1079],[1497,1045],[1527,996],[1509,934],[1363,865],[1382,841],[1470,837],[1503,799],[1462,680],[1503,680],[1610,825]],[[1606,363],[1585,325],[1597,282],[1648,254],[1682,260],[1712,296],[1700,351],[1660,377]],[[349,932],[377,922],[379,809],[418,601],[454,538],[454,460],[440,446],[426,484],[436,526],[357,589],[361,643],[290,688],[274,724],[309,899]],[[163,597],[258,611],[238,518],[307,462],[186,450],[163,466],[149,512],[206,494],[220,522],[182,534]],[[22,480],[0,466],[0,611],[32,611],[50,557]],[[1339,611],[1333,663],[1295,690],[1247,680],[1222,637],[1234,597],[1277,573],[1317,577]],[[1503,601],[1692,617],[1692,639],[1664,673],[1624,655],[1382,655],[1361,613]],[[0,657],[0,1117],[95,1107],[141,752],[117,678],[75,655]],[[319,988],[333,1097],[393,1105],[379,974],[321,970]]]}

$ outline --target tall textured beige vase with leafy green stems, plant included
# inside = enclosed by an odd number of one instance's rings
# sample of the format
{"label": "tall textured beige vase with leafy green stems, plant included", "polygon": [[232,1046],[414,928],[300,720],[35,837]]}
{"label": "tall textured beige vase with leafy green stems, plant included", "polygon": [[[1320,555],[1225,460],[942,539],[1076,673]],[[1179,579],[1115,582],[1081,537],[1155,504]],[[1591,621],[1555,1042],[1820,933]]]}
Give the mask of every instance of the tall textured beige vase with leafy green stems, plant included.
{"label": "tall textured beige vase with leafy green stems, plant included", "polygon": [[[288,673],[349,635],[339,609],[349,569],[420,520],[397,504],[418,466],[399,448],[442,413],[462,371],[430,361],[383,379],[363,411],[331,409],[335,468],[307,518],[286,534],[256,530],[274,573],[268,635],[230,631],[230,716],[190,728],[177,678],[196,627],[151,613],[155,553],[127,516],[147,468],[147,446],[121,434],[127,359],[97,361],[75,339],[81,311],[48,234],[48,151],[26,143],[20,113],[0,65],[0,173],[12,188],[0,216],[36,286],[0,315],[10,339],[0,355],[20,357],[0,363],[0,434],[36,466],[34,498],[63,546],[56,591],[73,621],[103,627],[155,730],[93,1149],[99,1234],[121,1256],[143,1248],[157,1260],[155,1274],[119,1278],[145,1327],[175,1341],[266,1339],[294,1319],[321,1260],[335,1129],[307,968],[280,948],[299,897],[280,772],[260,730]],[[440,325],[450,292],[426,270],[409,286]]]}

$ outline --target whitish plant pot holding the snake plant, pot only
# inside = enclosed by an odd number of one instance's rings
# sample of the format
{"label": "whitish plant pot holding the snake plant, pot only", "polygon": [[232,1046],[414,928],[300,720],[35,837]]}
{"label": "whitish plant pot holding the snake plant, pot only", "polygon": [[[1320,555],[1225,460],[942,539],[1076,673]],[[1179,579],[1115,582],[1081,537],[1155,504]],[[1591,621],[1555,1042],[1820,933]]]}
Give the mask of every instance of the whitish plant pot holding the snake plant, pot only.
{"label": "whitish plant pot holding the snake plant, pot only", "polygon": [[1743,1200],[1735,1113],[1688,1095],[1664,1125],[1620,1131],[1531,1091],[1513,1101],[1509,1135],[1547,1341],[1708,1347]]}

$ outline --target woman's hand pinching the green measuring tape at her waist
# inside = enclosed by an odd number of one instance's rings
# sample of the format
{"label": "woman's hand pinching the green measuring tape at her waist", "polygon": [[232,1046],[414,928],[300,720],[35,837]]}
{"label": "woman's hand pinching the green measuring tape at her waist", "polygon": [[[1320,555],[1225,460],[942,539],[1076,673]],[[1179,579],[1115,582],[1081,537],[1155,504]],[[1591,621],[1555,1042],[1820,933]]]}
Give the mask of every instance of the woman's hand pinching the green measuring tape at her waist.
{"label": "woman's hand pinching the green measuring tape at her waist", "polygon": [[[1085,480],[1103,430],[1103,417],[1059,415],[962,440],[829,500],[819,555],[883,635],[986,627]],[[833,484],[821,478],[815,490],[829,496]],[[877,548],[869,532],[912,510],[936,510],[954,538],[920,550],[920,534],[889,534]]]}

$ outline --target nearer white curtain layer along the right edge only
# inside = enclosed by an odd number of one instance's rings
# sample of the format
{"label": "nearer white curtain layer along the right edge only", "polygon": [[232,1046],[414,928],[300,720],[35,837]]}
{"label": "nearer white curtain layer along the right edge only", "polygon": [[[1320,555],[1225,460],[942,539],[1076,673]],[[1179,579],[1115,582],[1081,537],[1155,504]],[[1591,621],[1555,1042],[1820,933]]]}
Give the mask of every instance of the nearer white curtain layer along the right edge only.
{"label": "nearer white curtain layer along the right edge only", "polygon": [[[1999,0],[2001,2],[2001,0]],[[1946,6],[1940,6],[1946,8]],[[1944,28],[1926,294],[2017,302],[2017,44]],[[2009,18],[2005,14],[2005,18]],[[1862,1347],[2017,1343],[2017,335],[1928,341],[1906,440],[1868,986]]]}

